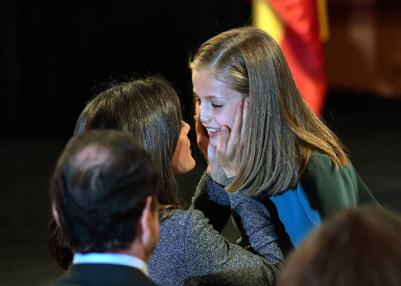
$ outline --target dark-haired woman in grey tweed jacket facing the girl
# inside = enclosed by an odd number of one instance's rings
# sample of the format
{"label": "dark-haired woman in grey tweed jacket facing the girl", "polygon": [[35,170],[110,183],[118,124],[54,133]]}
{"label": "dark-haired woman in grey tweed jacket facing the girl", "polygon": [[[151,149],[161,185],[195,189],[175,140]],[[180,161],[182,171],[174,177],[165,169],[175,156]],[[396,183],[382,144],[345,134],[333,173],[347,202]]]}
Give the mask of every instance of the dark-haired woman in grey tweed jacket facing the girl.
{"label": "dark-haired woman in grey tweed jacket facing the girl", "polygon": [[[101,92],[79,116],[75,134],[102,128],[134,133],[160,167],[160,236],[147,263],[152,281],[158,285],[273,284],[282,253],[267,209],[243,195],[246,190],[229,195],[230,208],[243,221],[246,249],[219,235],[200,211],[183,209],[174,175],[188,172],[195,162],[189,126],[182,121],[180,101],[168,82],[150,78]],[[213,181],[207,187],[221,189]],[[71,253],[66,253],[69,250],[52,221],[49,227],[53,256],[66,269]]]}

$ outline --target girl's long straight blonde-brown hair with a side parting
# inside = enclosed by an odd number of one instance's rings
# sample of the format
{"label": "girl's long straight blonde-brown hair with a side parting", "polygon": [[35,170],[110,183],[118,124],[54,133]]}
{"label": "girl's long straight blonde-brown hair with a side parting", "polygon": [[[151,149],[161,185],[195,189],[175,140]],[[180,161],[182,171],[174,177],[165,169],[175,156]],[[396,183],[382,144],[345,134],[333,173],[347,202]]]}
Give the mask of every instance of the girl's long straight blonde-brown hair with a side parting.
{"label": "girl's long straight blonde-brown hair with a side parting", "polygon": [[196,51],[192,71],[211,70],[216,79],[249,97],[240,171],[227,191],[279,195],[296,188],[312,150],[338,168],[348,164],[337,136],[308,108],[279,45],[265,31],[247,26],[209,39]]}

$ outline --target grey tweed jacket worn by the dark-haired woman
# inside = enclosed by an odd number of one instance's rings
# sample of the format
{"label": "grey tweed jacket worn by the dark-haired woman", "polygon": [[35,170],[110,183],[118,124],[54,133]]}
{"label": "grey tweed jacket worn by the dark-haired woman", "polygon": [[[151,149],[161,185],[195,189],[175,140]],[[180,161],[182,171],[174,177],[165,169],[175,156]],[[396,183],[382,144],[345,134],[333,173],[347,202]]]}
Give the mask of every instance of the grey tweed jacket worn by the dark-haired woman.
{"label": "grey tweed jacket worn by the dark-haired woman", "polygon": [[[204,174],[195,197],[222,190]],[[230,194],[227,203],[242,221],[245,249],[222,237],[201,211],[177,210],[160,222],[159,241],[147,263],[150,280],[158,285],[272,285],[283,257],[269,212],[242,193]]]}

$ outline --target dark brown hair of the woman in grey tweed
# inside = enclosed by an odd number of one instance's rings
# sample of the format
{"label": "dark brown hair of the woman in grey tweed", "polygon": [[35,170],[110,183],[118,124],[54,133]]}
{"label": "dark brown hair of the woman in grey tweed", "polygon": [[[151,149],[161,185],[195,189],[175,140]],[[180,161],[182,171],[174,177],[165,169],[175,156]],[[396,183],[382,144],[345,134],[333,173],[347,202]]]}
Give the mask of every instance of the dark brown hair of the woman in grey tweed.
{"label": "dark brown hair of the woman in grey tweed", "polygon": [[[91,129],[134,133],[160,168],[158,209],[159,217],[166,219],[176,209],[182,209],[171,166],[181,128],[181,104],[176,91],[164,79],[150,77],[115,84],[95,96],[79,116],[74,135]],[[53,216],[49,219],[48,230],[51,253],[67,270],[73,254]]]}

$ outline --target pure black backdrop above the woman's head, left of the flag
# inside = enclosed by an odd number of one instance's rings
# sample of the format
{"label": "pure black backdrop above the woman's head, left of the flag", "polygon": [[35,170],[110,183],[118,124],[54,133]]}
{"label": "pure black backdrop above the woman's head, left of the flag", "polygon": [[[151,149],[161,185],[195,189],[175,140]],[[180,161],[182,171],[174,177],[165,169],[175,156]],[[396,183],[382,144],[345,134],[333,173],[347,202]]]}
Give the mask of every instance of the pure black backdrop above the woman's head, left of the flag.
{"label": "pure black backdrop above the woman's head, left of the flag", "polygon": [[191,109],[188,55],[249,23],[246,0],[12,1],[2,4],[2,136],[72,135],[93,87],[160,74]]}

